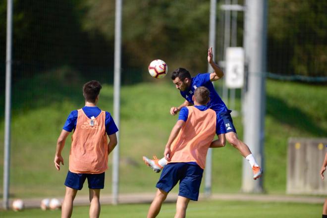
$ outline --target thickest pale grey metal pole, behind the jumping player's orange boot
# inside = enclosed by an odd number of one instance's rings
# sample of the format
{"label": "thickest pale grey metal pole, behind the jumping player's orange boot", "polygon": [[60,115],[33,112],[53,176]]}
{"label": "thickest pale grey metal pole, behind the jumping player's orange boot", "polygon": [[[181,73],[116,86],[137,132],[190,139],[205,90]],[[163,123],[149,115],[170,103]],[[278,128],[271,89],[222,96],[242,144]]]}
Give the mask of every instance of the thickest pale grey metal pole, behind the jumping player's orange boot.
{"label": "thickest pale grey metal pole, behind the jumping player's orange boot", "polygon": [[[248,62],[248,84],[244,96],[244,142],[264,169],[267,0],[246,0],[245,8],[244,49]],[[262,192],[262,184],[262,178],[259,181],[252,179],[252,169],[244,159],[242,191]]]}

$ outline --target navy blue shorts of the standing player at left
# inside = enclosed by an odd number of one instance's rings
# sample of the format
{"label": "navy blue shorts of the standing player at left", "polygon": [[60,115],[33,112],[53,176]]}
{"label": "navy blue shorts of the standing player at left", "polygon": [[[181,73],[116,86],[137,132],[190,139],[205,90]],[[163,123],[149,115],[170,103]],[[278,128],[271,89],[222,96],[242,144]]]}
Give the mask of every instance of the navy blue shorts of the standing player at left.
{"label": "navy blue shorts of the standing player at left", "polygon": [[91,189],[103,189],[105,187],[105,172],[99,174],[89,173],[74,173],[68,170],[67,177],[65,180],[65,186],[81,190],[85,179],[89,183]]}

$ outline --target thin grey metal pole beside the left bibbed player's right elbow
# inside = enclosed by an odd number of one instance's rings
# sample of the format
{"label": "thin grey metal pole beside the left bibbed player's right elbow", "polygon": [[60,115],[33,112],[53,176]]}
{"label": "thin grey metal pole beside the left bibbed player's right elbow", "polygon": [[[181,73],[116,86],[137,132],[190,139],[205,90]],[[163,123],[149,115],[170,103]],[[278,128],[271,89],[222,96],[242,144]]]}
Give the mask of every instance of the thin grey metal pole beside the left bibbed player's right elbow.
{"label": "thin grey metal pole beside the left bibbed player's right elbow", "polygon": [[[122,0],[116,0],[114,29],[113,116],[118,129],[120,128],[121,14]],[[118,204],[119,184],[119,131],[116,134],[118,144],[113,150],[112,157],[112,204],[114,205]]]}

